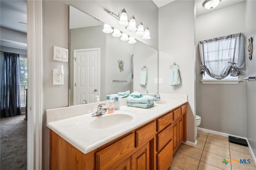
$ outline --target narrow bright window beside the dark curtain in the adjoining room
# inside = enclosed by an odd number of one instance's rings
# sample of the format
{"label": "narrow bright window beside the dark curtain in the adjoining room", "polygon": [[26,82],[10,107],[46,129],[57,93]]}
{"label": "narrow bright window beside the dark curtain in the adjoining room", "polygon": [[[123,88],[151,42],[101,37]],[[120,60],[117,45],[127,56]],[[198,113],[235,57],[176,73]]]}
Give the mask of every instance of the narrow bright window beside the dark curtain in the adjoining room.
{"label": "narrow bright window beside the dark curtain in the adjoining room", "polygon": [[20,105],[26,106],[26,89],[28,88],[28,59],[20,55]]}

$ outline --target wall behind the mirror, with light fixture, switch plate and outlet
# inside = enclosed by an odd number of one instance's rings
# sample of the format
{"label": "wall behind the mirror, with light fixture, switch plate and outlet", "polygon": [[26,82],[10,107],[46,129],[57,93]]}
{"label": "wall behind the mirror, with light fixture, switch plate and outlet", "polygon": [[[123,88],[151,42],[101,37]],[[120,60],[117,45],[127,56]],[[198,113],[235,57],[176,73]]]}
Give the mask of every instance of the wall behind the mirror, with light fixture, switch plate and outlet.
{"label": "wall behind the mirror, with light fixture, switch plate and outlet", "polygon": [[[158,8],[151,0],[146,1],[74,1],[74,0],[44,0],[42,1],[43,23],[43,117],[42,117],[42,164],[43,169],[49,166],[49,129],[46,127],[46,109],[68,106],[68,67],[69,63],[53,60],[53,46],[69,48],[69,6],[72,5],[87,14],[106,22],[115,28],[120,28],[118,20],[108,11],[118,13],[125,8],[128,15],[134,15],[136,20],[149,26],[151,40],[143,42],[158,48]],[[143,6],[143,8],[142,8]],[[129,33],[124,28],[121,31]],[[129,33],[130,34],[130,33]],[[141,38],[140,38],[141,39]],[[64,65],[64,85],[52,85],[52,69],[58,64]]]}

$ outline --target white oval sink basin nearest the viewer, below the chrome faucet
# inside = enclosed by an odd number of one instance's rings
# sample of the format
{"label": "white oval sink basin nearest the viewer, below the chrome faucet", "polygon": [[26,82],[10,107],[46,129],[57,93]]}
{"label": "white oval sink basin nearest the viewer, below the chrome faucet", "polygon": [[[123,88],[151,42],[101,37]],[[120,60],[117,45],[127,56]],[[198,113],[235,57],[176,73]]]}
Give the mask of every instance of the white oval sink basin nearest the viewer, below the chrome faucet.
{"label": "white oval sink basin nearest the viewer, below the chrome faucet", "polygon": [[86,117],[86,119],[81,119],[77,125],[80,128],[88,129],[104,129],[112,128],[121,125],[127,125],[132,123],[138,115],[130,111],[115,111],[114,113],[106,113],[105,115],[100,115],[96,117]]}

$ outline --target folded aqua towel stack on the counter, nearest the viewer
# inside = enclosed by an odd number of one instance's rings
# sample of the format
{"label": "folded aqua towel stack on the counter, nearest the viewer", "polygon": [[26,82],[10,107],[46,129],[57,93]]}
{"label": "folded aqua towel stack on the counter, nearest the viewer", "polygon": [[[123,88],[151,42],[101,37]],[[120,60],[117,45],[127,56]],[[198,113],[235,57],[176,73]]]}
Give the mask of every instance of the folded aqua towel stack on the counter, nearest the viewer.
{"label": "folded aqua towel stack on the counter, nearest the viewer", "polygon": [[143,97],[127,97],[126,101],[127,106],[132,107],[141,107],[141,108],[149,108],[154,106],[154,97],[152,96],[143,96]]}

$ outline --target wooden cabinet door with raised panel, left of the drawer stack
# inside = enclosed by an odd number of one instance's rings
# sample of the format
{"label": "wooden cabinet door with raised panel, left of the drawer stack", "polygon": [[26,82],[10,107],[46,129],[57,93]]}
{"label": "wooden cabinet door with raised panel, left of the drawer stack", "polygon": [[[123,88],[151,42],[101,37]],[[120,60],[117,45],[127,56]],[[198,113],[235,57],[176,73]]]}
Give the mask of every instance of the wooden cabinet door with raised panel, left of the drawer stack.
{"label": "wooden cabinet door with raised panel, left of the drawer stack", "polygon": [[149,143],[132,155],[132,170],[149,170]]}

